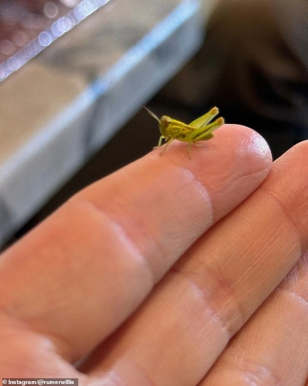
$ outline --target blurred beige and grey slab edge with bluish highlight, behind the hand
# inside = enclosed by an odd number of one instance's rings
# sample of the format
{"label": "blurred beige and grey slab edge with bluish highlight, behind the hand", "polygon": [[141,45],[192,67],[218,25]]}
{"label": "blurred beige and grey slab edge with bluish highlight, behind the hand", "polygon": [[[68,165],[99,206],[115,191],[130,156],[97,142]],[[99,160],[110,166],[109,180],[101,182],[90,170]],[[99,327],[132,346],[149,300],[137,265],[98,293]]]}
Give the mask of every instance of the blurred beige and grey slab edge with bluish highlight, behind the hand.
{"label": "blurred beige and grey slab edge with bluish highlight, behind the hand", "polygon": [[201,46],[200,1],[156,4],[111,1],[0,83],[0,246]]}

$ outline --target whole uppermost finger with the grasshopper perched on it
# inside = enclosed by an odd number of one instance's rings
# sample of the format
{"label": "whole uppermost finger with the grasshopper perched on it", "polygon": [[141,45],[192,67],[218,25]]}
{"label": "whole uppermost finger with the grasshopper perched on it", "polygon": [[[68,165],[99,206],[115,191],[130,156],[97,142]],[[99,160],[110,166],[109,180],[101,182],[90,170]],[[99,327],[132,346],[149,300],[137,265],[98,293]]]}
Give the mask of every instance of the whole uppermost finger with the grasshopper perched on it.
{"label": "whole uppermost finger with the grasshopper perched on it", "polygon": [[182,145],[86,188],[8,250],[2,307],[62,339],[73,359],[113,331],[271,165],[264,140],[244,127],[222,128],[192,160]]}

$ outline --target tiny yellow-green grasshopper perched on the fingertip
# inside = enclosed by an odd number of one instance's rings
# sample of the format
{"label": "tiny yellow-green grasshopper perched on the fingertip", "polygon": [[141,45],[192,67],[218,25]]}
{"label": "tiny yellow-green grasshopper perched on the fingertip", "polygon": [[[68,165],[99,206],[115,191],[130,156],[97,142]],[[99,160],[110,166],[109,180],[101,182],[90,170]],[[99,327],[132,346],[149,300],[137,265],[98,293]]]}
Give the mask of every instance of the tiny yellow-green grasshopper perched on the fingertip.
{"label": "tiny yellow-green grasshopper perched on the fingertip", "polygon": [[156,119],[159,124],[159,131],[161,136],[159,138],[157,147],[162,145],[163,140],[166,141],[167,145],[164,147],[163,151],[160,154],[162,154],[166,150],[167,146],[171,143],[171,141],[177,139],[179,141],[188,142],[187,152],[188,157],[190,158],[191,144],[198,141],[206,141],[208,139],[213,138],[213,131],[220,128],[224,124],[224,119],[222,117],[217,118],[212,123],[209,123],[219,113],[217,107],[213,107],[204,115],[195,119],[189,124],[177,121],[176,119],[173,119],[166,115],[163,115],[159,119],[152,111],[150,111],[146,107],[145,109],[151,116],[153,116],[154,119]]}

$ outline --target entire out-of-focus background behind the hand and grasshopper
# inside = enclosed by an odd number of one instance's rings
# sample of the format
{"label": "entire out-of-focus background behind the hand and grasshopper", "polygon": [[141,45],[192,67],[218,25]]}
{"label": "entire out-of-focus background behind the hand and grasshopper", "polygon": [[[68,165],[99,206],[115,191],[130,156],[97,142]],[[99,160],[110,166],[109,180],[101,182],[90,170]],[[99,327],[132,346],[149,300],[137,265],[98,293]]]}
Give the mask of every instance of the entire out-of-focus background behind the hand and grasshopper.
{"label": "entire out-of-focus background behind the hand and grasshopper", "polygon": [[1,0],[0,80],[4,248],[157,144],[145,104],[307,139],[308,2]]}

